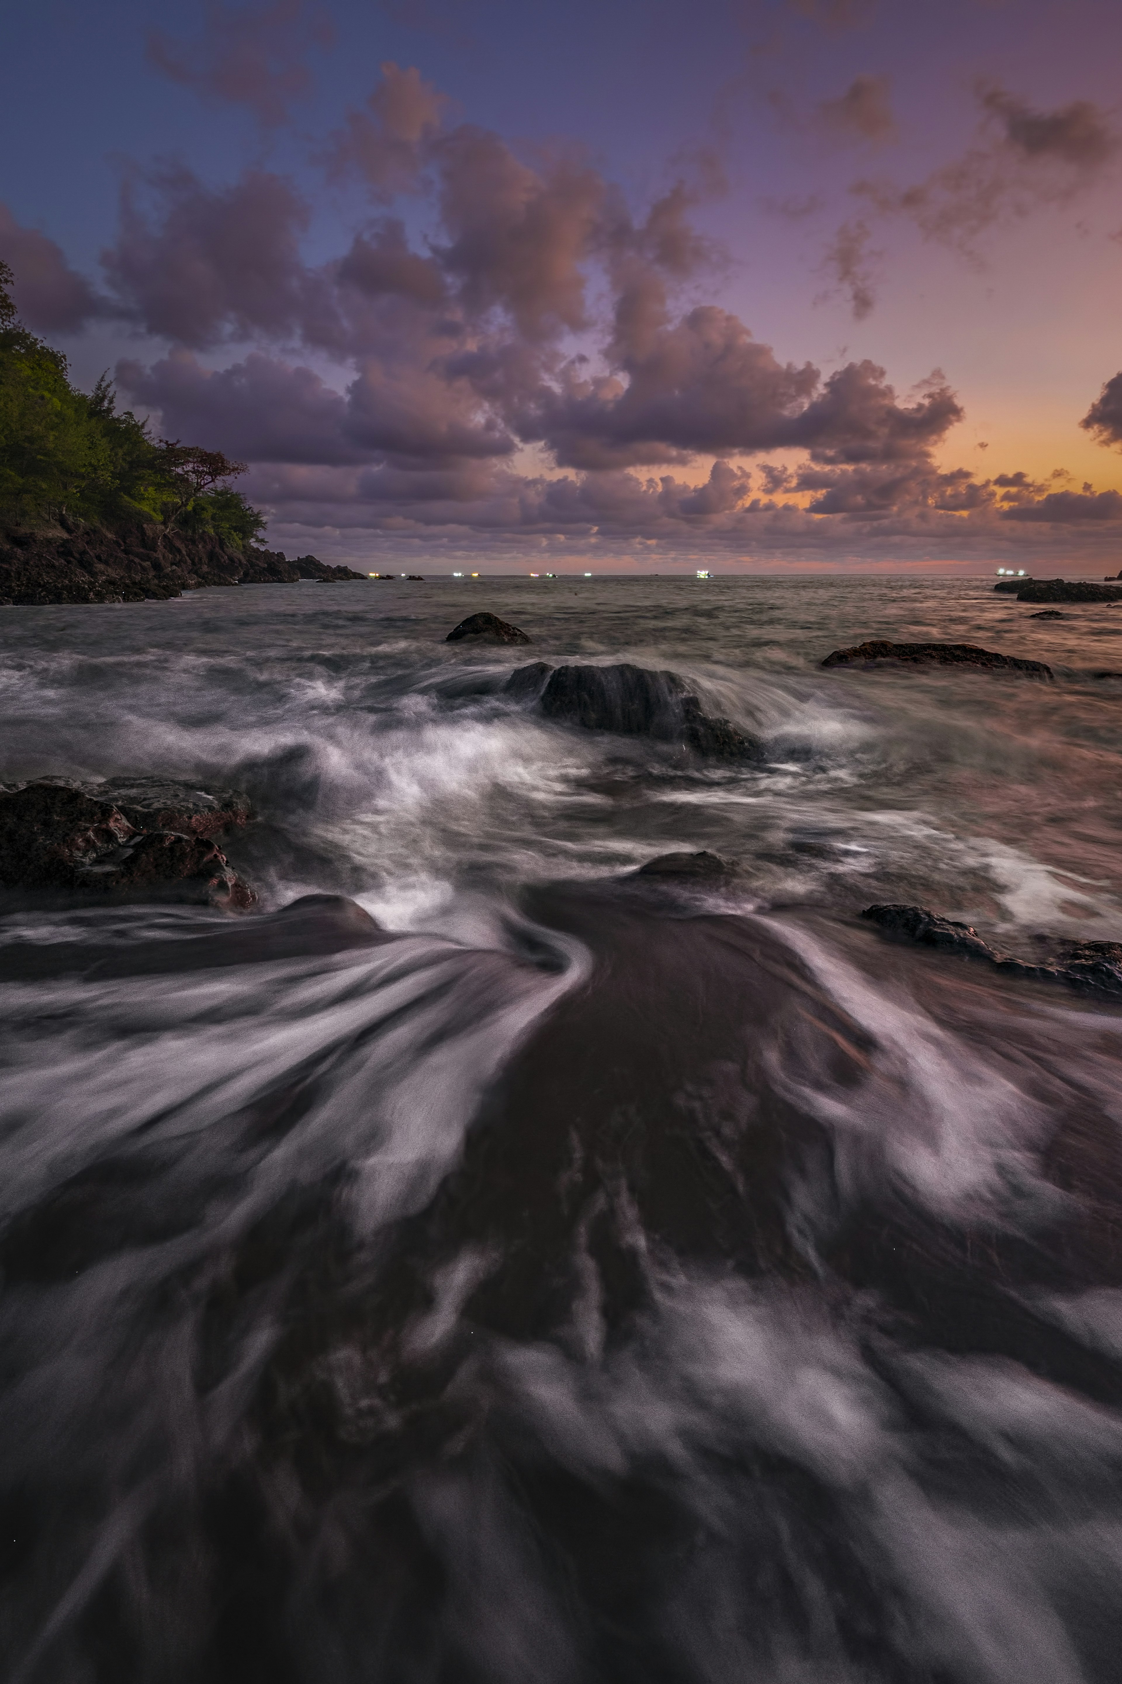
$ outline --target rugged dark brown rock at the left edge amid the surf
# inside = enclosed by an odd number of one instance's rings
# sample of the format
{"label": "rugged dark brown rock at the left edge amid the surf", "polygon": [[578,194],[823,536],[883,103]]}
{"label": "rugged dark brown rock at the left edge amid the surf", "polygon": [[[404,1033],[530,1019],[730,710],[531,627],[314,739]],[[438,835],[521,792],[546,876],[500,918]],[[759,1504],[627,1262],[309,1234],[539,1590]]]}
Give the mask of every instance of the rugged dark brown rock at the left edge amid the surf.
{"label": "rugged dark brown rock at the left edge amid the surf", "polygon": [[[136,899],[202,901],[244,911],[256,894],[212,837],[244,823],[241,797],[207,797],[153,781],[108,791],[57,780],[0,793],[0,884]],[[238,803],[238,805],[232,805]],[[172,818],[182,823],[170,829]]]}

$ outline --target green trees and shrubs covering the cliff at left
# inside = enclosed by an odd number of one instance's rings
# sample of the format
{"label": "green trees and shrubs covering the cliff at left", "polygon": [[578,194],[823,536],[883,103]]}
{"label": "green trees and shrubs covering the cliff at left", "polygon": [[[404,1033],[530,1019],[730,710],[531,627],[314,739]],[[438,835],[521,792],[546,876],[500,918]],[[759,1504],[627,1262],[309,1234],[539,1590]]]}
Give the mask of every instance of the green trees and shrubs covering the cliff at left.
{"label": "green trees and shrubs covering the cliff at left", "polygon": [[264,519],[229,485],[244,463],[153,440],[147,421],[116,409],[108,376],[79,392],[66,357],[17,320],[12,280],[0,263],[0,525],[158,522],[234,549],[253,541]]}

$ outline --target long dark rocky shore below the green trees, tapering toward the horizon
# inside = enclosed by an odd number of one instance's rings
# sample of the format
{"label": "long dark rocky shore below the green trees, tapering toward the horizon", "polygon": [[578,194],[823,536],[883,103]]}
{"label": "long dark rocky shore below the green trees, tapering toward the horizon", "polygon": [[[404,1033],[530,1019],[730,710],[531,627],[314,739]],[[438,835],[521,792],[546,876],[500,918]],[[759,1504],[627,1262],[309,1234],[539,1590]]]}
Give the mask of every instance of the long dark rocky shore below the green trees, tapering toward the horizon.
{"label": "long dark rocky shore below the green trees, tapering toward the horizon", "polygon": [[67,529],[0,534],[0,605],[143,603],[216,584],[297,584],[300,579],[364,579],[315,556],[229,549],[209,537],[145,524],[108,532]]}

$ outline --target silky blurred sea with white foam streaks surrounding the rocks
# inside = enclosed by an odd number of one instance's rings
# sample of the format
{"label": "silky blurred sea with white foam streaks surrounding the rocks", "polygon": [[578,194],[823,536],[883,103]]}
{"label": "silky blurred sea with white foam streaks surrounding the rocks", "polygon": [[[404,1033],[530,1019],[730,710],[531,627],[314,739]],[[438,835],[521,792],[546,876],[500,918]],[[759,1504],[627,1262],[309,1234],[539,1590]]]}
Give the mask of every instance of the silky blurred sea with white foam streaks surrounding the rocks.
{"label": "silky blurred sea with white foam streaks surrounding the rocks", "polygon": [[[445,643],[499,613],[532,647]],[[428,579],[0,611],[0,781],[244,790],[243,918],[0,906],[20,1684],[1077,1684],[1122,1644],[1122,608]],[[832,669],[970,642],[1055,682]],[[689,680],[704,763],[529,660]],[[635,876],[667,852],[719,881]],[[293,903],[300,903],[293,906]]]}

